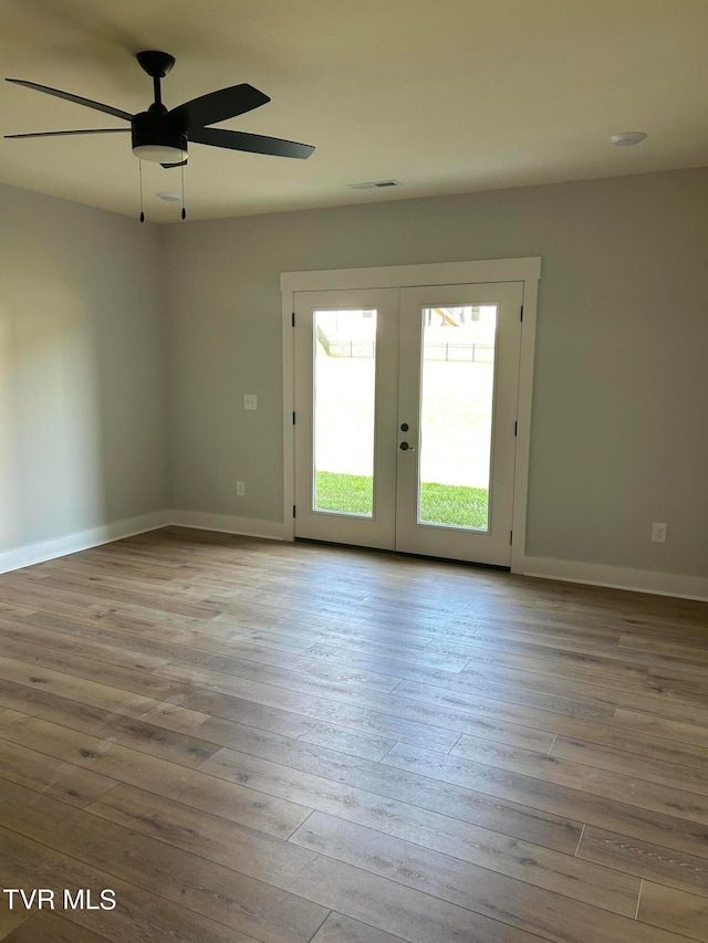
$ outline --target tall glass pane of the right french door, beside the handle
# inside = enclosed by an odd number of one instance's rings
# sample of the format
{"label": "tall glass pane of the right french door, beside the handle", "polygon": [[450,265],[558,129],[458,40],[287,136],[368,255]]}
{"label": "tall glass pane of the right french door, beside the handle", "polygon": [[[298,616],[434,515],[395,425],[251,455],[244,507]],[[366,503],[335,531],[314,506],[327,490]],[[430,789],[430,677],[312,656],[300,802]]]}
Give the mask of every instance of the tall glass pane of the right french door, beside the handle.
{"label": "tall glass pane of the right french door, beside the handle", "polygon": [[489,530],[497,305],[423,308],[418,523]]}

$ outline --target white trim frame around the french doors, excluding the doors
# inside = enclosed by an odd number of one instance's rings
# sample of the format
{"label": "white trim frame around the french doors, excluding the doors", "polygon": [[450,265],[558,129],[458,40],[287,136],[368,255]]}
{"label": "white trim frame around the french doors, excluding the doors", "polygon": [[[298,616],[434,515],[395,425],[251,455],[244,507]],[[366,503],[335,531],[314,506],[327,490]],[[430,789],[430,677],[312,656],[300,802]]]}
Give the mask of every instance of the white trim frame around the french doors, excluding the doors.
{"label": "white trim frame around the french doors, excluding the doors", "polygon": [[403,289],[424,285],[454,285],[472,282],[523,282],[523,323],[519,364],[517,412],[517,457],[514,468],[513,543],[511,572],[522,573],[525,555],[529,451],[531,446],[531,395],[535,349],[535,317],[541,259],[489,259],[480,262],[431,262],[421,265],[391,265],[381,269],[326,269],[312,272],[282,272],[283,329],[283,538],[294,539],[295,436],[293,312],[295,292],[347,289]]}

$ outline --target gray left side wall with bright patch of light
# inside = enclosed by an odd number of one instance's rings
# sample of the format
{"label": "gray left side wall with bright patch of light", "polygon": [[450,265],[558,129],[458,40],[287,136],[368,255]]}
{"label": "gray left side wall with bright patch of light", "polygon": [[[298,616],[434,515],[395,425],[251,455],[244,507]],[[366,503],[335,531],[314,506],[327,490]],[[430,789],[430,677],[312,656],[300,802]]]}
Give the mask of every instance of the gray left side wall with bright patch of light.
{"label": "gray left side wall with bright patch of light", "polygon": [[0,186],[0,552],[166,506],[158,241]]}

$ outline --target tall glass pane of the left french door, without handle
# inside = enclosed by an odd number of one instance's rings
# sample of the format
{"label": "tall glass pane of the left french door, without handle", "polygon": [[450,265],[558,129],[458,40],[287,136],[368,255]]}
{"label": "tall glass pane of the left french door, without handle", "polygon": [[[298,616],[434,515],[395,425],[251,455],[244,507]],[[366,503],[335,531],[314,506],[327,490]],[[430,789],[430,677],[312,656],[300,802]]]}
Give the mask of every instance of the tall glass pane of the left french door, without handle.
{"label": "tall glass pane of the left french door, without handle", "polygon": [[313,511],[373,517],[376,312],[315,311]]}

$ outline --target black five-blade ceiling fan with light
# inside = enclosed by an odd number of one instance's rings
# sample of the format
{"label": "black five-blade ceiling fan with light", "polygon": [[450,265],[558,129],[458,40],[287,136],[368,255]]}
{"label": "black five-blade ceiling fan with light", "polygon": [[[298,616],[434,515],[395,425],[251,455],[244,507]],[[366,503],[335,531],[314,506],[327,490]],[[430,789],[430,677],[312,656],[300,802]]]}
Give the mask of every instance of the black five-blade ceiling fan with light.
{"label": "black five-blade ceiling fan with light", "polygon": [[136,59],[142,69],[152,77],[155,88],[153,104],[146,112],[138,112],[136,115],[121,108],[114,108],[111,105],[103,105],[101,102],[93,102],[91,98],[82,98],[80,95],[72,95],[69,92],[60,92],[59,88],[38,85],[35,82],[6,78],[6,82],[35,88],[46,95],[65,98],[67,102],[75,102],[77,105],[85,105],[87,108],[94,108],[94,111],[122,118],[131,123],[129,127],[7,134],[6,137],[58,137],[62,135],[118,134],[129,130],[133,136],[133,154],[142,160],[162,164],[163,167],[184,166],[187,163],[189,142],[208,144],[211,147],[226,147],[230,150],[271,154],[275,157],[305,158],[310,157],[314,150],[311,145],[298,144],[294,140],[209,127],[217,122],[237,117],[270,102],[268,95],[247,83],[210,92],[208,95],[192,98],[191,102],[185,102],[184,105],[178,105],[168,111],[163,104],[160,78],[164,78],[171,71],[175,56],[167,52],[146,50],[138,52]]}

